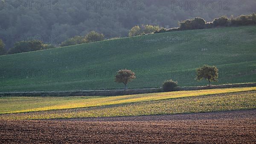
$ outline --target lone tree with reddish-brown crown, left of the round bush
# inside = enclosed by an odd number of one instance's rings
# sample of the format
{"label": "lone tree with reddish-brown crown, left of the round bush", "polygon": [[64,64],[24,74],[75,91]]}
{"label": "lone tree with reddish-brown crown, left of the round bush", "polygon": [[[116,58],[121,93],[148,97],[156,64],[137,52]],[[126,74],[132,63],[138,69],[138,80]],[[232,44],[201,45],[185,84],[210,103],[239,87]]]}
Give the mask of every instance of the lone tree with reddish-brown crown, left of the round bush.
{"label": "lone tree with reddish-brown crown, left of the round bush", "polygon": [[136,78],[135,73],[132,72],[131,70],[120,69],[119,71],[117,71],[115,82],[123,83],[126,89],[127,83],[135,78]]}

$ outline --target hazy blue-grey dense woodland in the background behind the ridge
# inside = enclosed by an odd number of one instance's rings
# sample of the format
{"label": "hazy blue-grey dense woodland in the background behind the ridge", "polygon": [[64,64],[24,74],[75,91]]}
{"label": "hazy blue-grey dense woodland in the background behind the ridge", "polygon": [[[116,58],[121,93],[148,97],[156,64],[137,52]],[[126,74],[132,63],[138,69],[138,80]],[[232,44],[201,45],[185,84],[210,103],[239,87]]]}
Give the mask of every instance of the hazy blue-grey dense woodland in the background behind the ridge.
{"label": "hazy blue-grey dense woodland in the background behind the ridge", "polygon": [[5,49],[12,48],[17,41],[30,39],[59,46],[71,37],[85,36],[90,31],[105,37],[125,37],[136,25],[172,28],[194,17],[208,22],[223,15],[251,14],[256,8],[256,0],[213,1],[213,7],[205,1],[202,5],[196,3],[196,8],[186,0],[126,0],[116,4],[102,0],[41,0],[31,5],[26,1],[1,1],[0,36]]}

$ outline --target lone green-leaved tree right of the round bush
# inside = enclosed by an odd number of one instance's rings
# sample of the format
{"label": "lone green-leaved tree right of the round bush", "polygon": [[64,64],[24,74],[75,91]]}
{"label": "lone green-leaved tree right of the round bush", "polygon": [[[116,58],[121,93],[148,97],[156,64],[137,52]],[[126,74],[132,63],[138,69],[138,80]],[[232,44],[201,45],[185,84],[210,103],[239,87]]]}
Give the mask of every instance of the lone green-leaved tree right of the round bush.
{"label": "lone green-leaved tree right of the round bush", "polygon": [[212,81],[218,81],[218,69],[216,66],[208,66],[204,65],[203,67],[196,69],[196,79],[201,81],[202,79],[206,79],[209,82],[209,86],[211,86]]}

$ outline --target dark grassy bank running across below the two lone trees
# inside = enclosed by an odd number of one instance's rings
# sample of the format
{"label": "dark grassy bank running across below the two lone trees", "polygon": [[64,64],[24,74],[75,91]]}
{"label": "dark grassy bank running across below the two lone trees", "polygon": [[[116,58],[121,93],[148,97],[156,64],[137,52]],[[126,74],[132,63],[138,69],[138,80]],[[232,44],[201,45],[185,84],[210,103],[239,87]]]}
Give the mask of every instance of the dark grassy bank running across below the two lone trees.
{"label": "dark grassy bank running across below the two lone trees", "polygon": [[[175,91],[201,90],[201,89],[221,89],[233,87],[251,87],[256,83],[243,84],[223,84],[212,86],[182,86],[176,87]],[[0,97],[8,96],[116,96],[135,95],[145,93],[164,92],[162,88],[142,88],[142,89],[105,89],[105,90],[77,90],[77,91],[30,91],[30,92],[0,92]]]}

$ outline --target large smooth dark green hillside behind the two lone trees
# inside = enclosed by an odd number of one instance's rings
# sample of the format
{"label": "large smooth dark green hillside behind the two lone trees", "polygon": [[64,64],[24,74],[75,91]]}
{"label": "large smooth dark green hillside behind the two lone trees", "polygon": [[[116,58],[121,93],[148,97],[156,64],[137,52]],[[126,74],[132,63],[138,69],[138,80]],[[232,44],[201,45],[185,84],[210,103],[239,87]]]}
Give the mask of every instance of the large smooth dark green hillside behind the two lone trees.
{"label": "large smooth dark green hillside behind the two lone trees", "polygon": [[256,26],[143,35],[0,56],[0,91],[115,89],[118,69],[132,69],[129,88],[180,86],[203,64],[220,69],[215,84],[256,82]]}

